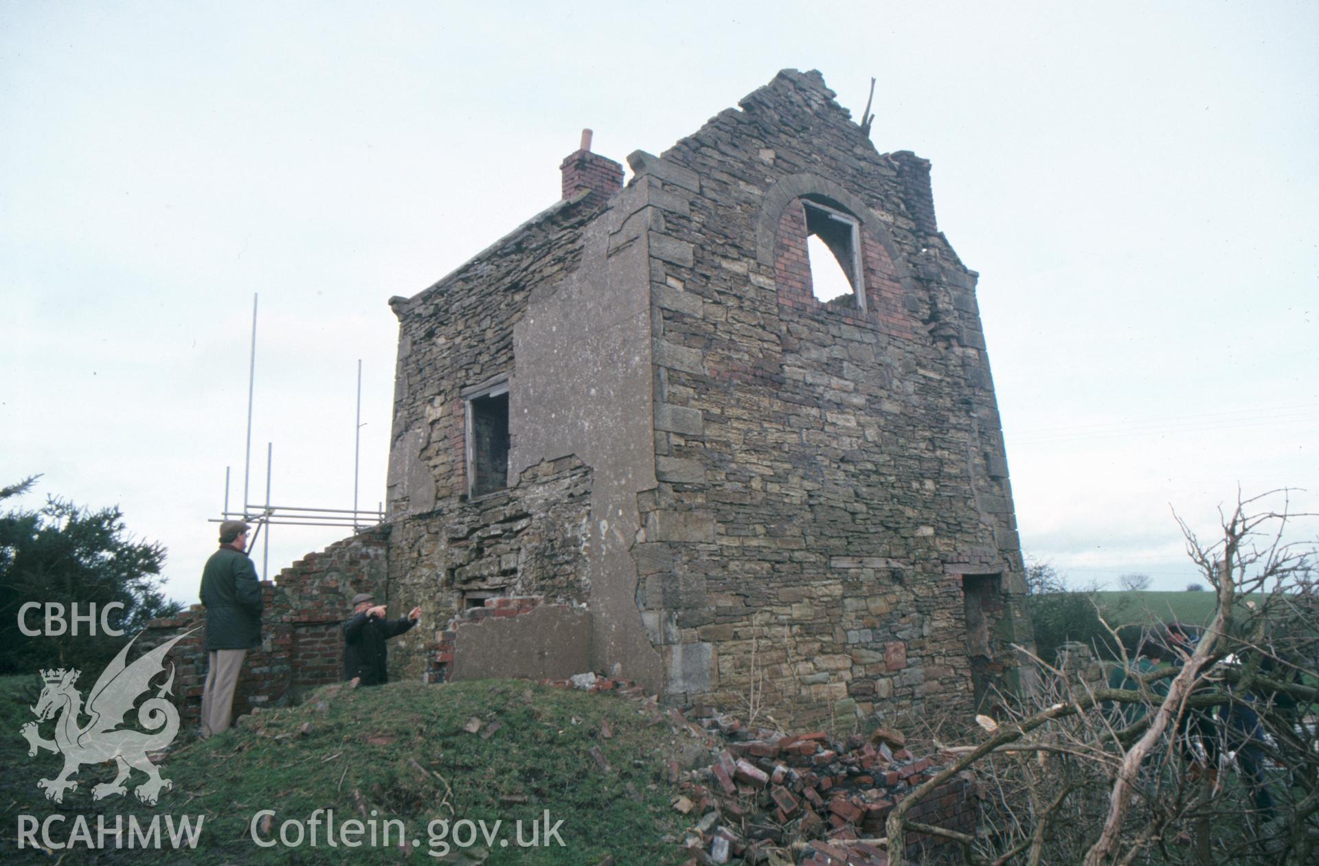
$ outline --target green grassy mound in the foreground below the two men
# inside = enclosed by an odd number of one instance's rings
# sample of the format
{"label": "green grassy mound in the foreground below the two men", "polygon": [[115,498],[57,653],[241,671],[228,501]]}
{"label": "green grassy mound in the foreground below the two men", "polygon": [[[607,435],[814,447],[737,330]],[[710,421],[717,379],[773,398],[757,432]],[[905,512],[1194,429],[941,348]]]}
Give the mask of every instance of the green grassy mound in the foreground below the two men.
{"label": "green grassy mound in the foreground below the two men", "polygon": [[[396,683],[332,696],[322,689],[299,707],[260,713],[210,741],[181,733],[175,746],[182,746],[161,767],[173,788],[154,808],[132,795],[94,803],[92,784],[113,775],[108,765],[82,767],[75,776],[78,790],[57,805],[36,782],[58,772],[61,759],[45,751],[29,758],[26,742],[17,736],[18,726],[32,718],[26,707],[36,699],[34,683],[36,678],[0,678],[4,862],[57,862],[58,853],[13,850],[18,815],[40,819],[55,812],[70,821],[87,815],[92,828],[98,812],[148,820],[154,813],[206,816],[195,852],[111,850],[95,859],[77,853],[66,855],[65,863],[471,862],[427,855],[427,824],[435,819],[447,819],[450,825],[459,819],[487,825],[503,821],[500,837],[509,844],[501,848],[496,841],[489,848],[485,862],[492,865],[594,866],[608,854],[619,863],[683,859],[678,845],[661,840],[666,834],[681,838],[682,830],[681,816],[669,808],[673,795],[663,779],[675,736],[634,700],[512,680]],[[495,722],[501,726],[483,739],[464,730],[472,718],[480,720],[481,732]],[[605,722],[612,737],[601,736]],[[47,722],[42,733],[49,736],[49,730]],[[608,770],[599,766],[594,749]],[[141,778],[135,771],[129,787]],[[260,809],[277,812],[264,838],[278,838],[281,823],[306,823],[315,809],[334,809],[340,825],[375,811],[380,828],[386,819],[401,819],[421,849],[409,854],[393,846],[327,848],[323,829],[315,849],[260,849],[249,837],[252,816]],[[551,825],[563,821],[565,846],[517,848],[514,821],[524,821],[529,838],[532,821],[545,811]],[[63,834],[69,830],[66,824]],[[485,846],[480,840],[477,845]]]}

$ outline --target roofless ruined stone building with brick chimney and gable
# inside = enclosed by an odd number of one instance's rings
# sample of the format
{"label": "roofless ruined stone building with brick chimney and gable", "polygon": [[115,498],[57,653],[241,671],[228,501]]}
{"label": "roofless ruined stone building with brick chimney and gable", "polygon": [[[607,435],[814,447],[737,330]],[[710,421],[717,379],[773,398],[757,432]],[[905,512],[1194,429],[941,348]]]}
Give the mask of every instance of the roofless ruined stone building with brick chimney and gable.
{"label": "roofless ruined stone building with brick chimney and gable", "polygon": [[969,709],[1030,631],[929,162],[785,70],[628,165],[586,137],[561,202],[390,301],[388,597],[441,623],[394,675]]}

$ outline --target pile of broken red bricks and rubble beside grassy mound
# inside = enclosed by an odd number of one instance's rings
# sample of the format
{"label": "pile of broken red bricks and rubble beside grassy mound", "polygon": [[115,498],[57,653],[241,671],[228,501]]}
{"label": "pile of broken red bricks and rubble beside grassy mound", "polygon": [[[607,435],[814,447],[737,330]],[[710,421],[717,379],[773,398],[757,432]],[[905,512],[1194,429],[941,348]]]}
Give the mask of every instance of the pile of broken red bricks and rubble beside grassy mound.
{"label": "pile of broken red bricks and rubble beside grassy mound", "polygon": [[[685,844],[690,865],[888,866],[884,824],[894,804],[942,767],[917,758],[902,733],[831,741],[824,732],[785,736],[751,730],[731,716],[695,707],[674,721],[711,741],[707,767],[670,774],[682,792],[673,805],[696,819]],[[973,779],[960,775],[917,805],[913,820],[973,833]],[[907,834],[905,855],[956,857],[946,840]]]}

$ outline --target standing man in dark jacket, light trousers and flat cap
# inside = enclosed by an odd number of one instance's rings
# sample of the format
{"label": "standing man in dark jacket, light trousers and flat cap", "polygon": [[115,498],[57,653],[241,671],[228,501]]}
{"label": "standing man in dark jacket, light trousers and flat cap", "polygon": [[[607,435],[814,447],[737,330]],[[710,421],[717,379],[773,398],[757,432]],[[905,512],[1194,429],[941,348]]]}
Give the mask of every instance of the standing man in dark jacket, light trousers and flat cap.
{"label": "standing man in dark jacket, light trousers and flat cap", "polygon": [[220,550],[202,571],[206,606],[206,654],[210,666],[202,691],[202,737],[228,730],[233,688],[243,656],[261,642],[261,583],[247,555],[248,525],[220,523]]}

